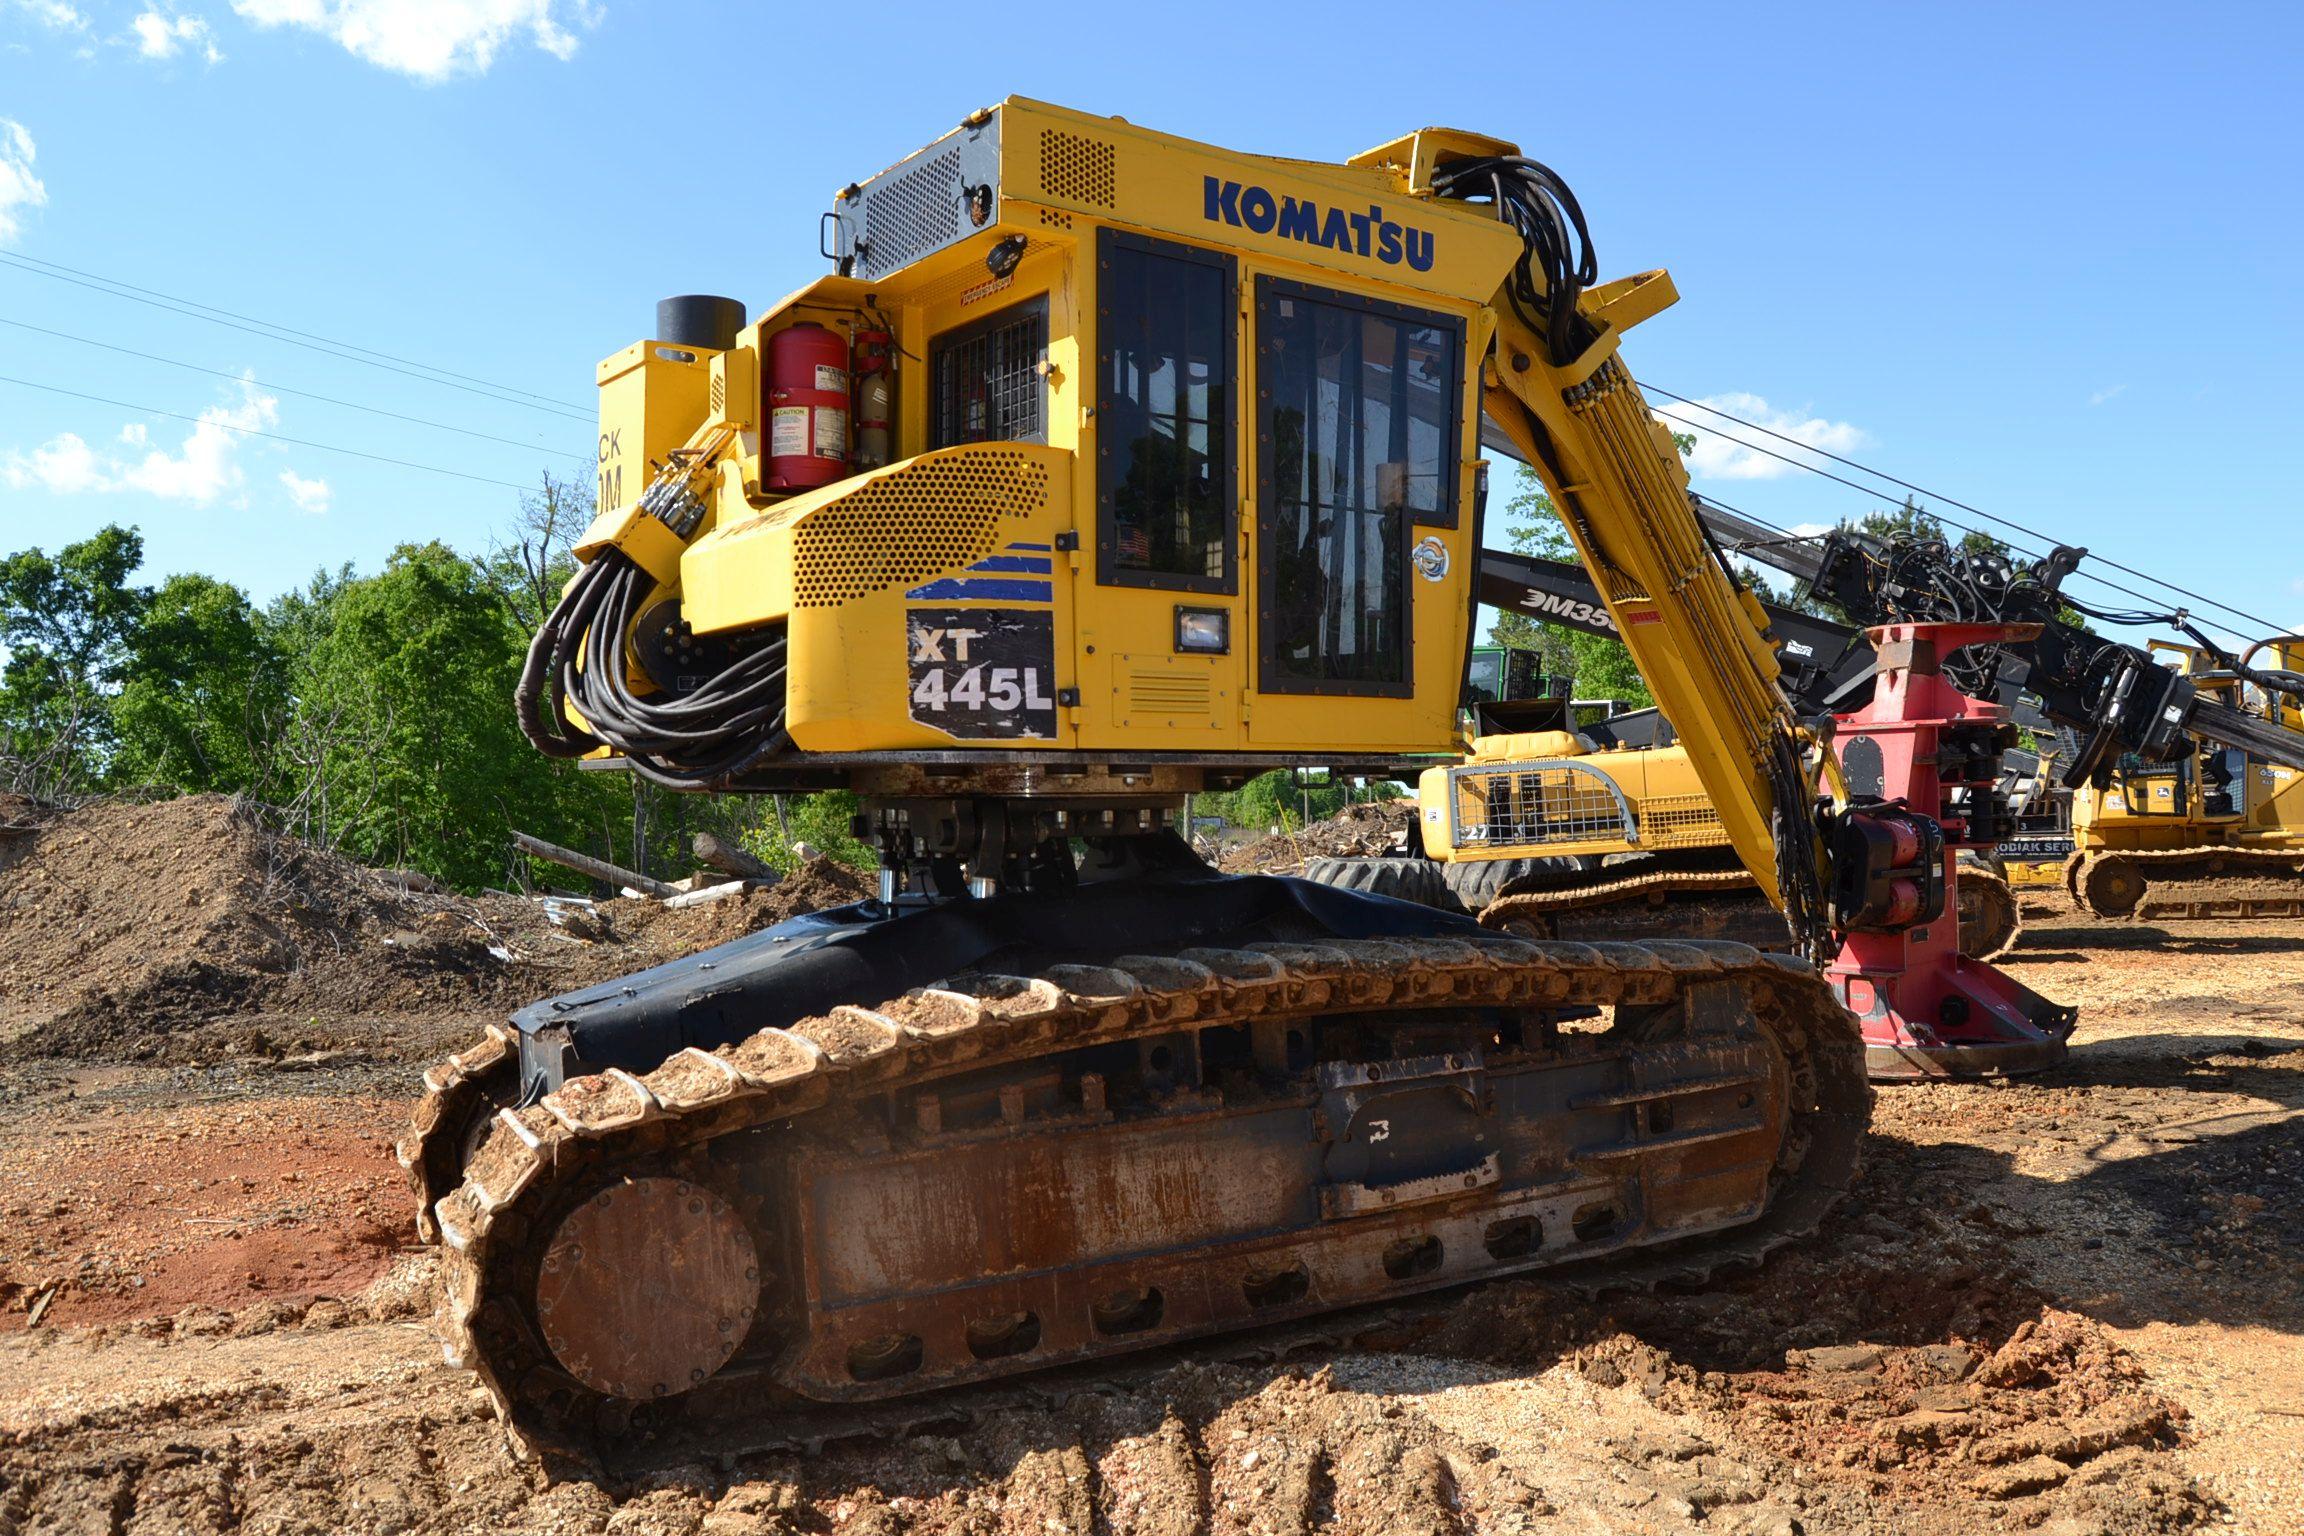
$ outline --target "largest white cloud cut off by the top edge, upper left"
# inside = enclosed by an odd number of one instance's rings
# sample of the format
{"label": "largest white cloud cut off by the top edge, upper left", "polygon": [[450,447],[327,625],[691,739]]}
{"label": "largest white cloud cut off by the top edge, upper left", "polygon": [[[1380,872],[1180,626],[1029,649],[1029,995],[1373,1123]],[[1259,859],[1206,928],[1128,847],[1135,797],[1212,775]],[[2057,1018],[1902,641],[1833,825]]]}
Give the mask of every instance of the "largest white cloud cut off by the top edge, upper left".
{"label": "largest white cloud cut off by the top edge, upper left", "polygon": [[576,28],[599,25],[588,0],[233,0],[260,28],[304,28],[353,58],[419,81],[486,74],[518,39],[553,58],[576,53]]}

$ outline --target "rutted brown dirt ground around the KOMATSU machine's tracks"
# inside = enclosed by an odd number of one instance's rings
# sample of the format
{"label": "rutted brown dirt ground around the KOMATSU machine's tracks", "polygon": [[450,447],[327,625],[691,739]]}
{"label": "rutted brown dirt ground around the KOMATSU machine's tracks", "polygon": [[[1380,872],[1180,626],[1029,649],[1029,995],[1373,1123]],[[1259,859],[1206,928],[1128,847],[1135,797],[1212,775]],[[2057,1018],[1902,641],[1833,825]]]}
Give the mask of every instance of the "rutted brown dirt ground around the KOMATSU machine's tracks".
{"label": "rutted brown dirt ground around the KOMATSU machine's tracks", "polygon": [[[627,928],[491,965],[555,990],[654,953]],[[1758,1273],[1498,1283],[551,1483],[438,1363],[389,1156],[484,1006],[48,1009],[0,1059],[0,1536],[2304,1529],[2304,923],[2034,907],[2007,967],[2081,1004],[2071,1064],[1882,1092],[1855,1197]]]}

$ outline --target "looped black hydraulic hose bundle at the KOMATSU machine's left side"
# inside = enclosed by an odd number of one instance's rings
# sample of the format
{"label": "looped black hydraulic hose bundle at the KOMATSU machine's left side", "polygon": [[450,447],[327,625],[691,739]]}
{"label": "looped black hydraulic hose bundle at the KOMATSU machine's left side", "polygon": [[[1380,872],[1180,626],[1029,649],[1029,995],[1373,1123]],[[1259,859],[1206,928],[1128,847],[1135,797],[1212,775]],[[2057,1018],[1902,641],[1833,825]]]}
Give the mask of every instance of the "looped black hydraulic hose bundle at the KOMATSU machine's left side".
{"label": "looped black hydraulic hose bundle at the KOMATSU machine's left side", "polygon": [[[694,481],[707,463],[707,454],[675,454],[641,495],[641,514],[691,537],[705,511]],[[721,783],[788,746],[781,633],[694,689],[645,698],[631,689],[627,636],[654,592],[657,578],[620,548],[576,573],[528,645],[514,693],[521,732],[548,758],[615,748],[631,771],[680,790]]]}

